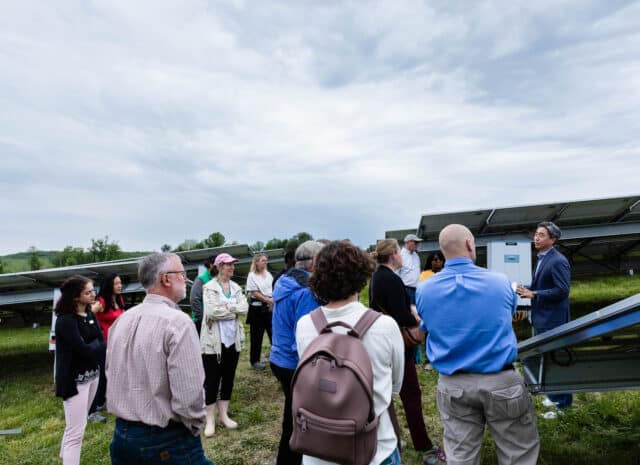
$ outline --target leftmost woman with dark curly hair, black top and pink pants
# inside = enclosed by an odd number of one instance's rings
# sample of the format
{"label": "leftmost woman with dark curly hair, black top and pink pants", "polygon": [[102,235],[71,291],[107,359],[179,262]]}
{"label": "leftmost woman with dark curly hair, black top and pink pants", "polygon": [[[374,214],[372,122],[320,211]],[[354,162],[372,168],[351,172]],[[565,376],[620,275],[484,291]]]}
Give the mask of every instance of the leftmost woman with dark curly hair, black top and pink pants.
{"label": "leftmost woman with dark curly hair, black top and pink pants", "polygon": [[60,457],[63,465],[79,465],[87,413],[98,389],[105,344],[96,317],[93,283],[72,276],[62,286],[56,303],[56,396],[62,397],[66,427]]}

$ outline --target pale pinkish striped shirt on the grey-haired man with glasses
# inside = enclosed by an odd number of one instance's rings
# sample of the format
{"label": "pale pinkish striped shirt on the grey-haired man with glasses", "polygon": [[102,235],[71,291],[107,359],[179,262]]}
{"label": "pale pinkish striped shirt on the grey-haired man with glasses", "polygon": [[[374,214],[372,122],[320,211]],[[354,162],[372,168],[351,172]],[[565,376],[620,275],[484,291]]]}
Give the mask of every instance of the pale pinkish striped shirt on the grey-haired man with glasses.
{"label": "pale pinkish striped shirt on the grey-haired man with glasses", "polygon": [[173,420],[200,434],[205,408],[198,334],[173,301],[148,294],[114,322],[106,370],[110,413],[162,428]]}

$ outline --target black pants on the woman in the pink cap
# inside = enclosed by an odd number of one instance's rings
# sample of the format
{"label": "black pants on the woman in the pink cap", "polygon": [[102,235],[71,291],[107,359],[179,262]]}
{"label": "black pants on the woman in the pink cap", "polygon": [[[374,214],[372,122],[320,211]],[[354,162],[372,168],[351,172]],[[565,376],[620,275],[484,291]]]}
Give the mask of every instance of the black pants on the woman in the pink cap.
{"label": "black pants on the woman in the pink cap", "polygon": [[220,359],[215,354],[202,354],[205,403],[207,405],[215,403],[218,399],[218,391],[220,391],[220,400],[231,399],[238,358],[240,358],[240,352],[236,351],[235,344],[231,347],[223,345]]}

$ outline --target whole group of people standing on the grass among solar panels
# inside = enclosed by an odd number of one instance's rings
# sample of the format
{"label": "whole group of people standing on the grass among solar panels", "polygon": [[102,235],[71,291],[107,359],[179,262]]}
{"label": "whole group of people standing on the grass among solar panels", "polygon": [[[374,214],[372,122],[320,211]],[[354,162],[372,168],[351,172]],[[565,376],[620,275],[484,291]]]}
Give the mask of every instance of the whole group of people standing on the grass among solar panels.
{"label": "whole group of people standing on the grass among solar panels", "polygon": [[[517,293],[506,276],[474,264],[474,237],[462,225],[441,231],[442,255],[431,260],[441,264],[432,265],[434,274],[428,279],[419,279],[419,261],[416,266],[411,255],[416,248],[407,251],[412,276],[418,272],[409,285],[401,272],[407,268],[403,250],[407,242],[419,242],[417,237],[405,240],[403,248],[395,240],[379,242],[375,259],[349,241],[307,241],[296,249],[292,266],[277,277],[273,289],[268,258],[257,254],[247,278],[249,299],[231,279],[237,259],[223,253],[207,263],[194,283],[193,321],[177,305],[186,297],[187,282],[180,258],[152,254],[141,260],[138,271],[145,299],[113,318],[106,334],[91,311],[92,282],[74,276],[62,285],[56,306],[56,394],[64,400],[67,422],[63,463],[79,463],[108,334],[106,399],[108,411],[116,416],[112,463],[211,464],[200,434],[215,433],[216,414],[226,428],[237,427],[229,417],[229,401],[245,339],[240,317],[247,314],[250,363],[264,369],[259,347],[266,331],[272,343],[269,365],[284,392],[277,463],[328,463],[290,447],[292,379],[305,348],[318,336],[309,313],[319,308],[329,323],[354,326],[370,311],[359,302],[370,282],[370,306],[382,313],[362,338],[373,369],[379,418],[377,449],[370,463],[401,463],[402,441],[392,408],[392,397],[399,395],[423,463],[478,464],[486,425],[501,465],[534,464],[539,452],[537,420],[513,366],[517,348],[512,316],[520,295],[532,299],[538,332],[568,321],[568,262],[553,249],[559,235],[553,223],[539,225],[535,245],[541,258],[532,285],[518,287]],[[121,282],[119,286],[121,292]],[[111,287],[110,300],[100,301],[102,312],[123,308],[124,303],[113,298],[116,287]],[[432,443],[424,422],[415,362],[419,346],[403,337],[416,328],[428,334],[426,355],[439,373],[444,450]],[[570,405],[566,398],[549,402],[560,408]]]}

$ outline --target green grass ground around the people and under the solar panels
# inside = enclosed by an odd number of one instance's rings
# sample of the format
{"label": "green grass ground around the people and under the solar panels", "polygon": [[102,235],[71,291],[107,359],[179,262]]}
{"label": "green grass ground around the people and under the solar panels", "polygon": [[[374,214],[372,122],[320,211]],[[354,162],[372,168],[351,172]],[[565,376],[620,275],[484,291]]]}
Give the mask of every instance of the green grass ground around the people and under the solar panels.
{"label": "green grass ground around the people and under the solar panels", "polygon": [[[618,293],[640,284],[635,278],[605,284],[619,287]],[[631,284],[629,284],[631,283]],[[591,287],[574,286],[572,300]],[[620,290],[623,289],[623,290]],[[615,291],[614,291],[615,292]],[[633,292],[631,292],[633,293]],[[53,357],[47,352],[48,329],[0,329],[0,429],[22,428],[22,433],[0,436],[0,463],[3,465],[59,464],[58,452],[64,430],[62,402],[54,396]],[[266,353],[266,346],[265,351]],[[266,370],[249,368],[248,353],[240,358],[231,409],[238,430],[219,427],[212,439],[203,439],[207,456],[217,465],[267,465],[275,463],[280,432],[282,394],[275,378]],[[436,409],[437,375],[420,370],[427,428],[436,444],[442,443],[442,428]],[[534,401],[539,413],[545,411],[541,398]],[[396,405],[402,417],[402,408]],[[542,441],[540,464],[544,465],[640,465],[640,393],[578,394],[574,408],[557,420],[538,417]],[[401,424],[403,424],[401,418]],[[109,442],[114,420],[87,427],[82,463],[109,464]],[[403,439],[404,464],[419,464],[420,454],[411,448],[406,429]],[[485,437],[482,463],[497,463],[490,436]]]}

